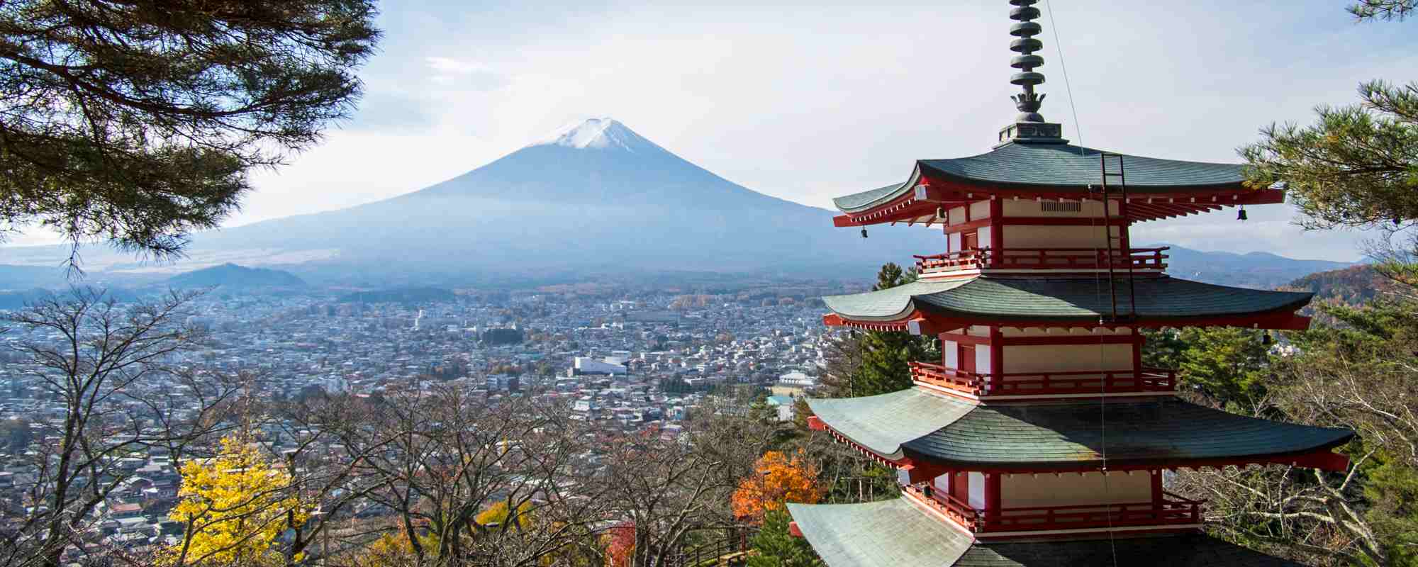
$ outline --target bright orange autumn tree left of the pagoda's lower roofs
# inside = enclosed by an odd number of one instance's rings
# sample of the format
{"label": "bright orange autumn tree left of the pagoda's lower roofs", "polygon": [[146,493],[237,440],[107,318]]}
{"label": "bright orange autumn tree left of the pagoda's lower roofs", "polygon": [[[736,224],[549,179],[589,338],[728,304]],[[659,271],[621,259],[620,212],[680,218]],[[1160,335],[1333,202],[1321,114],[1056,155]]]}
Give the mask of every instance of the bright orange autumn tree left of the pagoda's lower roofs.
{"label": "bright orange autumn tree left of the pagoda's lower roofs", "polygon": [[808,462],[803,449],[791,459],[780,451],[769,451],[754,462],[753,471],[733,492],[733,515],[740,519],[760,522],[764,513],[781,509],[786,502],[811,505],[822,499],[817,466]]}

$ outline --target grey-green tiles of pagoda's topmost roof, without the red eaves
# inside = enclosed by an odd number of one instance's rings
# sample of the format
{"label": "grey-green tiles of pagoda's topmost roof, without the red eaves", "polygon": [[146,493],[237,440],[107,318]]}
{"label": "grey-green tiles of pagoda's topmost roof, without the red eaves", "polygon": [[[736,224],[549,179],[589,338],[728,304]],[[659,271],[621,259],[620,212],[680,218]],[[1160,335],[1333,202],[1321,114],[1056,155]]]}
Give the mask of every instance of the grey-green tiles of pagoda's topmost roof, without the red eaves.
{"label": "grey-green tiles of pagoda's topmost roof, without the red eaves", "polygon": [[[1099,157],[1103,153],[1116,155],[1073,145],[1011,142],[978,156],[917,160],[906,183],[837,197],[832,203],[844,213],[865,211],[910,193],[923,177],[977,184],[984,193],[1012,189],[1088,196],[1089,186],[1103,181]],[[1232,163],[1123,156],[1123,166],[1127,190],[1139,197],[1242,190],[1245,181],[1245,166]]]}

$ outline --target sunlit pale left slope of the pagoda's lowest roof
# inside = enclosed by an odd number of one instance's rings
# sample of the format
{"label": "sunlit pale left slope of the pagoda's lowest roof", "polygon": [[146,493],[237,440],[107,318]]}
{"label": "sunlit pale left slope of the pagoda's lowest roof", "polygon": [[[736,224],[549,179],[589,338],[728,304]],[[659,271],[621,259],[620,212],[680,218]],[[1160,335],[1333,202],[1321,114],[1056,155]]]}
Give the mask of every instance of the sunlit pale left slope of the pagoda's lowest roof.
{"label": "sunlit pale left slope of the pagoda's lowest roof", "polygon": [[828,567],[949,567],[971,537],[905,499],[864,505],[788,505]]}

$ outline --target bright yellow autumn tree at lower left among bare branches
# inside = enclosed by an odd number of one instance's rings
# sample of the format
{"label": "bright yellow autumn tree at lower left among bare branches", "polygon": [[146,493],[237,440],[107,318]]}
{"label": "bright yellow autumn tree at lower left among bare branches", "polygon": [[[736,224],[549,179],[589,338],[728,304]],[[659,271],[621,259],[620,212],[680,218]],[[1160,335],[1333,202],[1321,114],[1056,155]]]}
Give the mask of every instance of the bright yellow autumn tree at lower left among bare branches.
{"label": "bright yellow autumn tree at lower left among bare branches", "polygon": [[[186,526],[183,541],[167,550],[169,564],[265,566],[284,561],[271,549],[286,529],[309,519],[288,490],[291,473],[272,466],[244,435],[221,439],[211,459],[182,466],[182,502],[167,515]],[[299,557],[296,558],[299,560]]]}

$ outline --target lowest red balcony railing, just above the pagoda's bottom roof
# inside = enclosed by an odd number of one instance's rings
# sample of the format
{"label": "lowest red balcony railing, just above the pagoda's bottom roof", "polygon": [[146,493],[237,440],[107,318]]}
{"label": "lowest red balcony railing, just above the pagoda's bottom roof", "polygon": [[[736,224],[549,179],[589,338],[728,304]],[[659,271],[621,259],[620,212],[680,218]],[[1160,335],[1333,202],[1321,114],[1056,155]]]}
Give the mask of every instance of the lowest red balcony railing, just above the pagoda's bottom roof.
{"label": "lowest red balcony railing, just above the pagoda's bottom roof", "polygon": [[1200,500],[1163,492],[1159,502],[977,510],[933,488],[912,485],[906,486],[906,492],[976,533],[1197,524],[1201,523],[1204,505]]}

